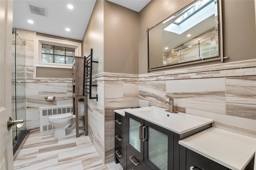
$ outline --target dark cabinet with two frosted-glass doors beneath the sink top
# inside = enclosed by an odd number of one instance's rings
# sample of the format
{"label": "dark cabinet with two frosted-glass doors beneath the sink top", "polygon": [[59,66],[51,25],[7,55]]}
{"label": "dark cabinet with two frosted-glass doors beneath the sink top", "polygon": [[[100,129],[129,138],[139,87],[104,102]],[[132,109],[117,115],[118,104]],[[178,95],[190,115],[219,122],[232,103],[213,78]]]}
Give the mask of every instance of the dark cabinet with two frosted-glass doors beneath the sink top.
{"label": "dark cabinet with two frosted-glass doors beneath the sink top", "polygon": [[211,126],[210,123],[177,134],[126,113],[127,169],[179,170],[181,160],[178,141]]}

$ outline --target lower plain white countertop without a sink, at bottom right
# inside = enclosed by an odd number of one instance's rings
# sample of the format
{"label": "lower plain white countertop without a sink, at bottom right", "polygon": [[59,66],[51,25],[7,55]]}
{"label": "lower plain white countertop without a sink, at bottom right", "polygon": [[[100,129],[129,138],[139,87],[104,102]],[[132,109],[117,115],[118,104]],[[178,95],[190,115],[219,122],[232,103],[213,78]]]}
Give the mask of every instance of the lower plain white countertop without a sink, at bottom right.
{"label": "lower plain white countertop without a sink, at bottom right", "polygon": [[243,170],[254,156],[256,138],[211,127],[179,144],[232,170]]}

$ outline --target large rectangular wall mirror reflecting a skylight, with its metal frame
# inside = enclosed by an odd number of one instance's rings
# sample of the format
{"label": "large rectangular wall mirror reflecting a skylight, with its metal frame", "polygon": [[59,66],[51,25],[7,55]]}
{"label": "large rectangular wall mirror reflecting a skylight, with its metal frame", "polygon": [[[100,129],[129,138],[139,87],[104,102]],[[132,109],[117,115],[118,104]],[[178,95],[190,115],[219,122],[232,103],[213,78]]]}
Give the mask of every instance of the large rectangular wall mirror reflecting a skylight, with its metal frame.
{"label": "large rectangular wall mirror reflecting a skylight, with its metal frame", "polygon": [[148,71],[223,61],[221,2],[195,0],[148,32]]}

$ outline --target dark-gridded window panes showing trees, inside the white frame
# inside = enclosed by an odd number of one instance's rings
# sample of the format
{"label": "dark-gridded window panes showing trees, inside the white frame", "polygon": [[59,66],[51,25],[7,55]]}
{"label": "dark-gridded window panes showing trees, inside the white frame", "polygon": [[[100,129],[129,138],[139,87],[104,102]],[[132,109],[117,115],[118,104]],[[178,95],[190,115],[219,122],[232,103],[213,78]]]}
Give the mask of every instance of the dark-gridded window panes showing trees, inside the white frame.
{"label": "dark-gridded window panes showing trees, inside the white frame", "polygon": [[72,64],[74,56],[74,48],[42,44],[42,63]]}

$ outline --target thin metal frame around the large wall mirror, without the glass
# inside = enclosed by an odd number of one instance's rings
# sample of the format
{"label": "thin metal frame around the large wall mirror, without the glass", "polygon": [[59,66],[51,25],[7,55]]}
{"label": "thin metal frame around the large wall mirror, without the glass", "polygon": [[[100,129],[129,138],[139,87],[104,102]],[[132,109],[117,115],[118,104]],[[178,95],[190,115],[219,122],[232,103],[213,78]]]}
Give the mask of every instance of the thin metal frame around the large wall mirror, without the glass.
{"label": "thin metal frame around the large wall mirror, without the glass", "polygon": [[181,8],[180,10],[174,12],[173,14],[171,14],[170,16],[168,16],[167,18],[165,18],[164,20],[158,22],[158,24],[152,26],[151,28],[147,28],[146,32],[147,32],[147,52],[148,52],[148,73],[150,71],[156,71],[156,70],[161,70],[161,69],[167,69],[167,68],[172,68],[172,67],[179,67],[179,66],[183,66],[183,65],[191,65],[191,64],[196,64],[196,63],[204,63],[204,62],[208,62],[208,61],[216,61],[216,60],[221,60],[221,62],[224,61],[224,59],[227,59],[228,57],[224,57],[223,56],[223,19],[222,19],[222,1],[221,0],[217,0],[217,6],[218,6],[218,36],[219,36],[219,55],[216,57],[210,57],[209,59],[201,59],[200,61],[198,60],[194,60],[194,61],[187,61],[184,63],[178,63],[178,64],[169,64],[169,65],[162,65],[159,67],[155,67],[155,68],[150,68],[150,58],[149,58],[149,31],[152,30],[153,28],[155,28],[156,26],[159,26],[160,24],[162,24],[162,22],[168,20],[169,18],[171,18],[172,16],[178,14],[180,11],[184,10],[185,8],[187,8],[188,6],[198,2],[199,0],[194,0],[192,2],[190,2],[189,4],[187,4],[186,6],[184,6],[183,8]]}

